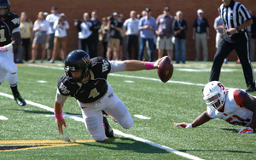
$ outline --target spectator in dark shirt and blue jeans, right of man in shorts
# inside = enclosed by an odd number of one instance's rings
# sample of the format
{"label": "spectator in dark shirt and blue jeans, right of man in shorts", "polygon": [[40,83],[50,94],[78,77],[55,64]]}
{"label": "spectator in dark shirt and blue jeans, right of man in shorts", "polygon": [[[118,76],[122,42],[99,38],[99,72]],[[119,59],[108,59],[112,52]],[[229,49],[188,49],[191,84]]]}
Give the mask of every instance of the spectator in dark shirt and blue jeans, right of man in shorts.
{"label": "spectator in dark shirt and blue jeans, right of man in shorts", "polygon": [[[180,60],[184,64],[186,62],[186,30],[188,29],[186,20],[183,20],[182,11],[176,12],[177,20],[174,21],[174,49],[176,63],[178,64]],[[180,57],[181,54],[181,57]]]}

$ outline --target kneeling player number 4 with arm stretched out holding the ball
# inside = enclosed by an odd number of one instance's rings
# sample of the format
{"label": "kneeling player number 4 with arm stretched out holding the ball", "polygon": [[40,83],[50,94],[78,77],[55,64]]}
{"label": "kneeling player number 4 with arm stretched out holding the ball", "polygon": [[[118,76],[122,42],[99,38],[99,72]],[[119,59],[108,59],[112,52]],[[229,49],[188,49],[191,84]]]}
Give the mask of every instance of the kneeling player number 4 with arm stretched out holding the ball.
{"label": "kneeling player number 4 with arm stretched out holding the ball", "polygon": [[[158,62],[139,60],[108,61],[102,57],[90,59],[83,50],[73,50],[65,60],[65,74],[58,81],[55,96],[55,122],[60,134],[66,126],[62,117],[64,102],[74,97],[81,107],[84,124],[93,140],[103,141],[106,135],[102,125],[102,111],[107,111],[124,129],[131,129],[133,119],[124,103],[114,94],[107,82],[108,73],[139,71],[158,68]],[[113,137],[113,133],[110,134]]]}

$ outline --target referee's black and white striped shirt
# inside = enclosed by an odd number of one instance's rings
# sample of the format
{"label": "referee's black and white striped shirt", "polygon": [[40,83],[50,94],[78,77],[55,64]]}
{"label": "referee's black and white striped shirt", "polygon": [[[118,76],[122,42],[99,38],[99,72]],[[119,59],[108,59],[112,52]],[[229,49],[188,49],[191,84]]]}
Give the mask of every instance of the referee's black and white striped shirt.
{"label": "referee's black and white striped shirt", "polygon": [[[241,26],[244,21],[250,20],[251,15],[249,14],[247,8],[235,1],[231,1],[229,6],[224,6],[224,3],[218,8],[218,13],[224,23],[225,31],[230,28],[236,28]],[[246,29],[241,29],[245,31]]]}

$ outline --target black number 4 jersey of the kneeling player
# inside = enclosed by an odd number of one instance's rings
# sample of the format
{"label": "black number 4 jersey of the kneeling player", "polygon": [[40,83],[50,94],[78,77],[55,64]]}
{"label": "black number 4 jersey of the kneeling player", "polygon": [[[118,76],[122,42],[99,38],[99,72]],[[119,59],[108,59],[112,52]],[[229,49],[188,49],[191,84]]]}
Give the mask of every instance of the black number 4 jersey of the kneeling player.
{"label": "black number 4 jersey of the kneeling player", "polygon": [[58,81],[59,92],[83,103],[91,103],[102,98],[108,91],[110,63],[102,57],[96,57],[90,59],[90,65],[90,80],[87,83],[70,83],[67,75],[63,74]]}

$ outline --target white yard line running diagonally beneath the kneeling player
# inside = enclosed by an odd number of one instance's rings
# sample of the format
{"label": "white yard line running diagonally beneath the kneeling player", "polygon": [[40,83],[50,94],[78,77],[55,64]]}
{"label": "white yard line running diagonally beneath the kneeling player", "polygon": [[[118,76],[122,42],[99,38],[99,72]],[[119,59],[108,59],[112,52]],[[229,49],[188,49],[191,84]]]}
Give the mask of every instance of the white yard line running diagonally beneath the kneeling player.
{"label": "white yard line running diagonally beneath the kneeling player", "polygon": [[[10,95],[10,94],[4,94],[4,93],[0,92],[0,95],[8,97],[10,99],[14,99],[13,95]],[[39,108],[42,108],[44,110],[54,112],[54,108],[51,108],[49,106],[44,106],[44,105],[41,105],[39,103],[32,102],[30,100],[26,100],[26,104],[29,104],[29,105],[32,105],[32,106],[38,106]],[[79,121],[79,122],[84,123],[84,120],[83,120],[82,117],[77,117],[76,115],[71,115],[71,114],[67,114],[67,113],[64,113],[64,112],[63,112],[63,116],[70,117],[70,118],[72,118],[75,121]],[[119,135],[122,135],[122,136],[124,136],[126,138],[131,138],[132,140],[137,140],[137,141],[146,143],[146,144],[148,144],[150,146],[155,146],[157,148],[160,148],[162,150],[166,150],[166,151],[172,152],[172,153],[177,154],[177,155],[182,156],[182,157],[187,157],[187,158],[193,159],[193,160],[201,160],[200,157],[195,157],[193,155],[189,155],[188,153],[184,153],[182,151],[174,150],[174,149],[172,149],[172,148],[170,148],[168,146],[162,146],[160,144],[154,143],[154,142],[149,141],[149,140],[145,140],[145,139],[137,137],[135,135],[125,134],[125,133],[123,133],[123,132],[121,132],[121,131],[119,131],[117,129],[113,129],[113,132],[114,132],[114,134],[119,134]]]}

